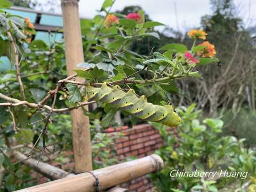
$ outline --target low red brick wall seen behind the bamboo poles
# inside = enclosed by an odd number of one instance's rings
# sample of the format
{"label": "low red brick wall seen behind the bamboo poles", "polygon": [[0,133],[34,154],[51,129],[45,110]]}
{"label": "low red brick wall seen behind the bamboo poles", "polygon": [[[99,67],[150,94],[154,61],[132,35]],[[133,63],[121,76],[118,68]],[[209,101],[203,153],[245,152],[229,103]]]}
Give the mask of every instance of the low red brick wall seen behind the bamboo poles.
{"label": "low red brick wall seen behind the bamboo poles", "polygon": [[[177,135],[177,131],[170,127],[169,131],[173,131]],[[120,161],[125,161],[126,157],[145,157],[154,153],[156,149],[163,145],[163,140],[158,130],[149,124],[135,125],[131,129],[127,126],[114,129],[108,128],[106,132],[109,135],[116,132],[122,132],[123,137],[115,139],[115,147],[117,150],[117,158]],[[67,156],[73,154],[71,151],[66,151]],[[58,155],[57,155],[58,156]],[[60,169],[72,172],[74,171],[74,162],[72,159],[67,158],[66,163],[50,162],[50,164],[59,167]],[[48,181],[47,178],[42,177],[39,173],[33,172],[33,176],[43,183]],[[153,191],[154,188],[151,185],[147,176],[143,176],[127,183],[122,183],[121,187],[129,189],[129,191],[141,192],[141,191]]]}

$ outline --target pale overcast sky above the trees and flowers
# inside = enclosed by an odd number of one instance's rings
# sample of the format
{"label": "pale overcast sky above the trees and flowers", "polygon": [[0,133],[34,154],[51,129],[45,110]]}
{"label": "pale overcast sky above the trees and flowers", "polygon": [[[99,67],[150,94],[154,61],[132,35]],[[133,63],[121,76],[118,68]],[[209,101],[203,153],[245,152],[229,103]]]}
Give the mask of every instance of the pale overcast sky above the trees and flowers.
{"label": "pale overcast sky above the trees and flowers", "polygon": [[[79,14],[81,17],[93,18],[97,14],[96,10],[100,10],[102,2],[103,0],[80,0]],[[234,0],[234,2],[244,22],[251,23],[250,26],[255,25],[256,22],[248,22],[248,18],[256,18],[256,0]],[[177,17],[174,4],[177,7]],[[122,10],[129,5],[139,5],[150,19],[183,32],[189,28],[198,27],[201,17],[211,13],[209,0],[116,0],[112,11]],[[55,12],[61,13],[60,7],[55,9]]]}

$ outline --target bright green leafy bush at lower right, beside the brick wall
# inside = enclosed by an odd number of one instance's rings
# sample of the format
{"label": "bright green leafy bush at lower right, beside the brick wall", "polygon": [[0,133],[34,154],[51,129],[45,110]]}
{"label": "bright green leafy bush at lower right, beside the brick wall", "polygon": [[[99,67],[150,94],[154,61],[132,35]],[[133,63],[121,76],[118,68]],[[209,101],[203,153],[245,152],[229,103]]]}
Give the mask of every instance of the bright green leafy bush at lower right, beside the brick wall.
{"label": "bright green leafy bush at lower right, beside the brick wall", "polygon": [[223,121],[198,119],[201,111],[195,105],[181,107],[182,124],[179,135],[174,137],[167,127],[154,124],[162,134],[165,145],[156,153],[164,160],[164,169],[151,175],[158,191],[218,191],[230,183],[243,183],[240,178],[170,177],[172,170],[202,171],[248,171],[247,178],[255,177],[256,154],[243,147],[244,140],[235,137],[220,137]]}

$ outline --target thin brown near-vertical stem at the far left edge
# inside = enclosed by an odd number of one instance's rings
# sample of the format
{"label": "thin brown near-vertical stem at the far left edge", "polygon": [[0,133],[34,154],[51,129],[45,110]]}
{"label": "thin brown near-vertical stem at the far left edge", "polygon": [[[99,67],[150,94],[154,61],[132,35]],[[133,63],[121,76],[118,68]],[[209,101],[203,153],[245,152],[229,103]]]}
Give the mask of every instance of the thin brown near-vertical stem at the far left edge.
{"label": "thin brown near-vertical stem at the far left edge", "polygon": [[20,87],[21,99],[23,101],[25,101],[26,97],[25,97],[24,86],[23,86],[23,83],[21,81],[21,76],[20,76],[20,65],[19,65],[19,55],[18,55],[17,46],[16,46],[16,44],[15,44],[13,38],[12,38],[12,35],[11,35],[10,31],[7,31],[7,36],[9,38],[9,41],[12,44],[12,49],[14,51],[14,65],[15,65],[15,69],[16,69],[17,81],[18,81],[19,87]]}

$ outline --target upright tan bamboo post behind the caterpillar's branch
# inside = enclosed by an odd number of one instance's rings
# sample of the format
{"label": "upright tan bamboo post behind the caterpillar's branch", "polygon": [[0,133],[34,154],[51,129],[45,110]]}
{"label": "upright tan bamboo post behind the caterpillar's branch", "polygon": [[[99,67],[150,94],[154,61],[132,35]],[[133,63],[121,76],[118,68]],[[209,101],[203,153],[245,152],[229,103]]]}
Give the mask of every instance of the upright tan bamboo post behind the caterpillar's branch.
{"label": "upright tan bamboo post behind the caterpillar's branch", "polygon": [[[65,55],[68,75],[74,74],[78,63],[84,62],[78,0],[61,0]],[[77,78],[76,81],[82,81]],[[85,107],[87,108],[87,106]],[[71,111],[73,127],[73,151],[76,173],[92,170],[91,136],[89,118],[82,109]]]}

